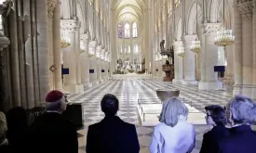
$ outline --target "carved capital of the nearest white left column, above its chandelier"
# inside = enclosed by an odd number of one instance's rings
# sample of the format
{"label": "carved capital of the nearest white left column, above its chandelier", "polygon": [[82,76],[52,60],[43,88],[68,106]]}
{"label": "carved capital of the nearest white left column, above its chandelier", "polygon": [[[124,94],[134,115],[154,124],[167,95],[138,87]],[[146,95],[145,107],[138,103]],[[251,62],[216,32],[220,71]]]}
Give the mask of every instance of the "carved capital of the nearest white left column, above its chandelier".
{"label": "carved capital of the nearest white left column, above its chandelier", "polygon": [[81,22],[76,19],[61,19],[61,30],[76,32],[81,28]]}

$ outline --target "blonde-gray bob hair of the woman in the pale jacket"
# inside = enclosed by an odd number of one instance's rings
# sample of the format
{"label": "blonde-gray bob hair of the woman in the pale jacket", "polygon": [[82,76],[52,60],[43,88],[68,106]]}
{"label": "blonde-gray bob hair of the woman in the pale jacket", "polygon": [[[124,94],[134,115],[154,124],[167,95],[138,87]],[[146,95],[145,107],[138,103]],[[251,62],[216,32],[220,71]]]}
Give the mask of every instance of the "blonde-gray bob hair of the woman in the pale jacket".
{"label": "blonde-gray bob hair of the woman in the pale jacket", "polygon": [[178,97],[172,97],[163,104],[162,112],[159,117],[160,122],[166,123],[168,126],[174,127],[180,116],[185,118],[188,115],[188,108]]}

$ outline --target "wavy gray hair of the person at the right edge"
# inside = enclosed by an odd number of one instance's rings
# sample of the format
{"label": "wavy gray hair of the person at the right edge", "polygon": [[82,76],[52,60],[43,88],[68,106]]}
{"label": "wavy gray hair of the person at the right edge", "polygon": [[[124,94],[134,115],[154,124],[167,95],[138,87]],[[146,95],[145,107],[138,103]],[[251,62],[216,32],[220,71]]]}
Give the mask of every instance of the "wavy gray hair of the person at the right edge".
{"label": "wavy gray hair of the person at the right edge", "polygon": [[235,96],[227,107],[236,124],[253,124],[256,119],[256,103],[246,96]]}

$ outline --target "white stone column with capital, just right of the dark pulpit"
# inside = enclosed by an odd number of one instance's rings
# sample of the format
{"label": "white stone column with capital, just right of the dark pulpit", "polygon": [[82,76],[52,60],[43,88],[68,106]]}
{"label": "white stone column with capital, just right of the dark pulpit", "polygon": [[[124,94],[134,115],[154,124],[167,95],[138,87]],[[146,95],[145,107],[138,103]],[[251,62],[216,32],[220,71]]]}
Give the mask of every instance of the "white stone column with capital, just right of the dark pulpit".
{"label": "white stone column with capital, just right of the dark pulpit", "polygon": [[195,81],[195,53],[190,50],[192,41],[195,41],[196,35],[184,35],[184,80],[182,84],[196,85]]}

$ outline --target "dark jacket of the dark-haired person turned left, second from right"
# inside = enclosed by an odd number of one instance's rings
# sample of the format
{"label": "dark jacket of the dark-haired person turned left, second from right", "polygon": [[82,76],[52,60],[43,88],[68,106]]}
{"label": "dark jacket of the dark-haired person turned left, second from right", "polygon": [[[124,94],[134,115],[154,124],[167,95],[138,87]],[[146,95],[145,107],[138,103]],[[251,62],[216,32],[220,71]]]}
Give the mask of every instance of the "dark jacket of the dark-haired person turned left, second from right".
{"label": "dark jacket of the dark-haired person turned left, second from right", "polygon": [[208,133],[204,134],[200,153],[216,153],[218,141],[229,135],[229,130],[224,125],[214,126]]}

